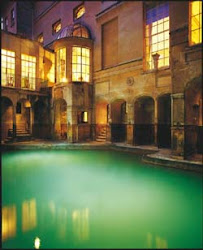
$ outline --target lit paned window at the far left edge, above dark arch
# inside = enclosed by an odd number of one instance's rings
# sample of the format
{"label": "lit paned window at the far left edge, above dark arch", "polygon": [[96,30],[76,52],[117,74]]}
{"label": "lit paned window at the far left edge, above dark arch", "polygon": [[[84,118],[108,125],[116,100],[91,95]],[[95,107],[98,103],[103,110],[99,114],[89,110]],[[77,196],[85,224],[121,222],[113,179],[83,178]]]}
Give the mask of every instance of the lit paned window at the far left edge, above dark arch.
{"label": "lit paned window at the far left edge, above dark arch", "polygon": [[15,52],[1,50],[1,84],[2,86],[15,86]]}

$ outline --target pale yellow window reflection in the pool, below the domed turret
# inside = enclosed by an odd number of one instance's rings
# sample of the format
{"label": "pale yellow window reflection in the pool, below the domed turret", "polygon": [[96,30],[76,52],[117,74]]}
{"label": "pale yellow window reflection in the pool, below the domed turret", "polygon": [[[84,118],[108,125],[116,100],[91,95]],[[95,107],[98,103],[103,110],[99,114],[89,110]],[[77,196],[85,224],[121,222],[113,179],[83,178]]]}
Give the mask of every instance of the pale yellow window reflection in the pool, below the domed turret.
{"label": "pale yellow window reflection in the pool, below the domed turret", "polygon": [[89,209],[74,210],[72,212],[73,234],[77,240],[89,239]]}

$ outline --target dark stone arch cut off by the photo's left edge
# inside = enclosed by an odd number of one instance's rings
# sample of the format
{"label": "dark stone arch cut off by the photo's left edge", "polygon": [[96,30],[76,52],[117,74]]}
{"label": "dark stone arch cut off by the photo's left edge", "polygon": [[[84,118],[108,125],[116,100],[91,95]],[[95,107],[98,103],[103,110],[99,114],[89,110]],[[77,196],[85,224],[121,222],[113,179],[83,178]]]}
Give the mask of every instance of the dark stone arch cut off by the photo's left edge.
{"label": "dark stone arch cut off by the photo's left edge", "polygon": [[13,102],[6,96],[1,97],[1,141],[13,136]]}

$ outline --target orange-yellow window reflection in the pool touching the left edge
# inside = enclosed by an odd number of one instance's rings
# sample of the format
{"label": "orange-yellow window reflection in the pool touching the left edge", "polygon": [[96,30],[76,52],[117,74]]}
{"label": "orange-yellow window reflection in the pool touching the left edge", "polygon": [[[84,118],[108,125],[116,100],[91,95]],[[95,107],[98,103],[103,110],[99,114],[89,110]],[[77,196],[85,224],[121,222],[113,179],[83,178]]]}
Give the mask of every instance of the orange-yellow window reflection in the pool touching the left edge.
{"label": "orange-yellow window reflection in the pool touching the left edge", "polygon": [[2,208],[2,241],[16,235],[16,206],[10,205]]}

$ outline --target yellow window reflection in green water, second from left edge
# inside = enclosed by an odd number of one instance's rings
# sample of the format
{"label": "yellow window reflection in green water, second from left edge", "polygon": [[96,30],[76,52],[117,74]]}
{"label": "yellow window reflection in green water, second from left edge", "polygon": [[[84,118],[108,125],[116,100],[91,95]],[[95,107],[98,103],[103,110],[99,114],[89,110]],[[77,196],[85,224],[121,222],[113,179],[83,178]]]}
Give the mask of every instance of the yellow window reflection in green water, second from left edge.
{"label": "yellow window reflection in green water, second from left edge", "polygon": [[24,201],[22,204],[22,230],[32,230],[37,225],[36,200]]}

